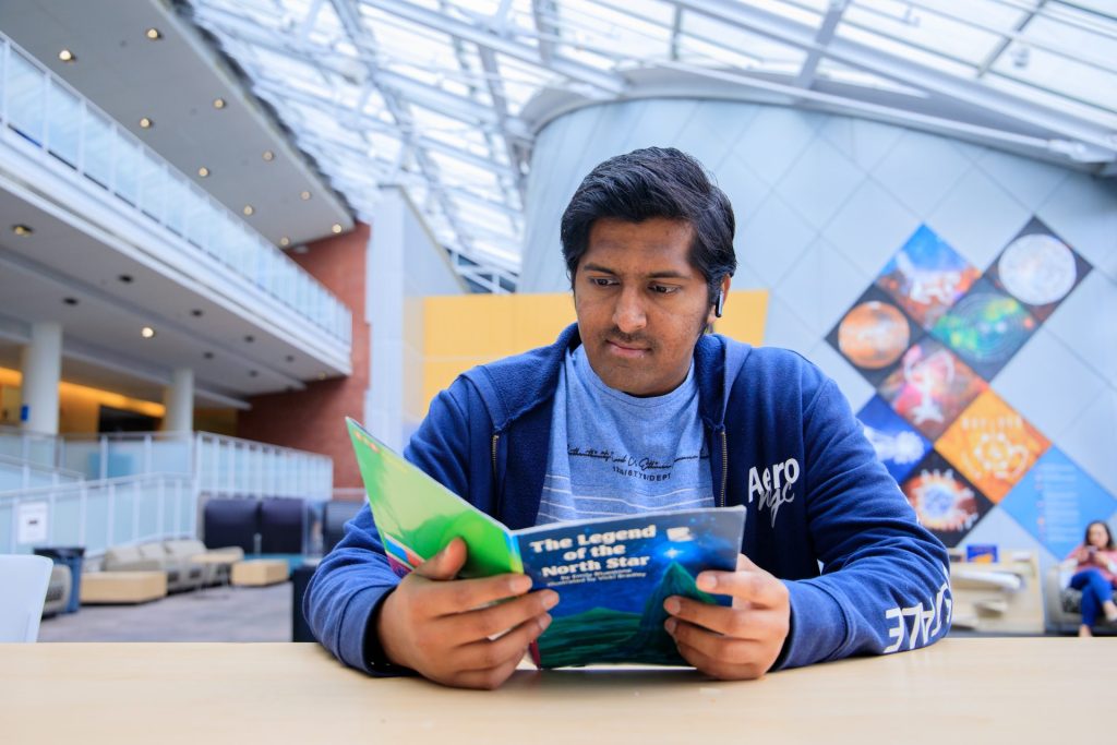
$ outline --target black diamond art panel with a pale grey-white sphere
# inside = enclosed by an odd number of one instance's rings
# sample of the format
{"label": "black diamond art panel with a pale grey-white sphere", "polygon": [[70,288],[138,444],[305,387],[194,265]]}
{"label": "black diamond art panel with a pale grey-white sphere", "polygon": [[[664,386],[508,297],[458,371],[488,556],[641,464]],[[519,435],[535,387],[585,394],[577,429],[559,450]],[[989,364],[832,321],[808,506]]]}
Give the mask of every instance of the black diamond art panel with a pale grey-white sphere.
{"label": "black diamond art panel with a pale grey-white sphere", "polygon": [[1020,300],[1040,323],[1054,313],[1090,273],[1089,261],[1032,218],[985,273],[997,288]]}

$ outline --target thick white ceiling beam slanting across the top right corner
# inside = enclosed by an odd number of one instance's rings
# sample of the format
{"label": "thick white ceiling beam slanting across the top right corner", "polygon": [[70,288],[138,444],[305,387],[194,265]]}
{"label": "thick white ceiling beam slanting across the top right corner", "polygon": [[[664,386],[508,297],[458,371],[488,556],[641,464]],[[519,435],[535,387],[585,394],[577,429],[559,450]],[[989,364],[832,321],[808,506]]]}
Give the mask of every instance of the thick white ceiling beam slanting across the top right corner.
{"label": "thick white ceiling beam slanting across the top right corner", "polygon": [[799,49],[818,49],[824,57],[889,80],[1008,116],[1117,156],[1117,136],[1108,128],[1068,112],[1027,101],[977,80],[924,67],[904,57],[849,39],[834,38],[824,48],[814,41],[815,29],[782,16],[733,0],[669,0],[714,20],[761,34]]}

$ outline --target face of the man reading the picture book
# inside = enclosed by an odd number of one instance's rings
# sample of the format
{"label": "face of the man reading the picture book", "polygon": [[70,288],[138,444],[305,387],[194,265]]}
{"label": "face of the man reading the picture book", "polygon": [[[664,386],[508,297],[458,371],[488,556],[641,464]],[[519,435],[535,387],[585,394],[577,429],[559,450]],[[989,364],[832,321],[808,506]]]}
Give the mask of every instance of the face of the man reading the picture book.
{"label": "face of the man reading the picture book", "polygon": [[[690,369],[714,312],[679,220],[600,219],[574,275],[574,308],[593,372],[631,395],[662,395]],[[726,277],[723,289],[728,290]]]}

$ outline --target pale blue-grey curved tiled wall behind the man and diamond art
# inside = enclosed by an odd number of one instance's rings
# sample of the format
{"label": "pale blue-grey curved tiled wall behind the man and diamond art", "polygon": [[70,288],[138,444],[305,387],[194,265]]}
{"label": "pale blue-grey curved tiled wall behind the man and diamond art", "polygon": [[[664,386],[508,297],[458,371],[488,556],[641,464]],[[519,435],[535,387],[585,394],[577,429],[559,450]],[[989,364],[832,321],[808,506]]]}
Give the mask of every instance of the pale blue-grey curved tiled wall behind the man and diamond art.
{"label": "pale blue-grey curved tiled wall behind the man and diamond art", "polygon": [[[822,366],[855,411],[873,390],[824,336],[908,236],[926,223],[984,271],[1032,216],[1041,219],[1095,268],[992,388],[1117,495],[1115,180],[792,108],[686,99],[593,106],[540,133],[521,292],[569,288],[558,222],[570,197],[599,162],[648,145],[679,147],[714,172],[737,217],[734,288],[772,294],[765,343]],[[1024,544],[1001,513],[967,542]]]}

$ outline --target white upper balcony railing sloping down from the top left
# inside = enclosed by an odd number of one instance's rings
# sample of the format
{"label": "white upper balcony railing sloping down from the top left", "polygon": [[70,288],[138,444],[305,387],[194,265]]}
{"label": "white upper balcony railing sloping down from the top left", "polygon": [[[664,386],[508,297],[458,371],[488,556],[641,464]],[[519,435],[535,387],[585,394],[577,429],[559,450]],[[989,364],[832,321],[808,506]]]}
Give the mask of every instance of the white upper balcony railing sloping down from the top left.
{"label": "white upper balcony railing sloping down from the top left", "polygon": [[345,346],[344,304],[223,204],[0,34],[0,139],[60,163],[84,189],[161,225],[183,250],[219,261]]}

